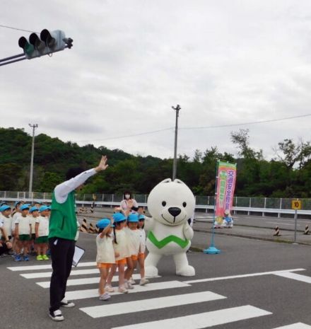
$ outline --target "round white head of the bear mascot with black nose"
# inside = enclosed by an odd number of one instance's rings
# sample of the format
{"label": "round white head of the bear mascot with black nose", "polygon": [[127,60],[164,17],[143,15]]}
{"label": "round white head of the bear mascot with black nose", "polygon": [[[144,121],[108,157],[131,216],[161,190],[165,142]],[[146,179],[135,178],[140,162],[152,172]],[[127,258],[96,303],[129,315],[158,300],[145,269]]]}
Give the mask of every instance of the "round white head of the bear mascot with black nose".
{"label": "round white head of the bear mascot with black nose", "polygon": [[192,217],[195,200],[189,187],[181,180],[167,178],[153,187],[147,205],[153,219],[177,226]]}

